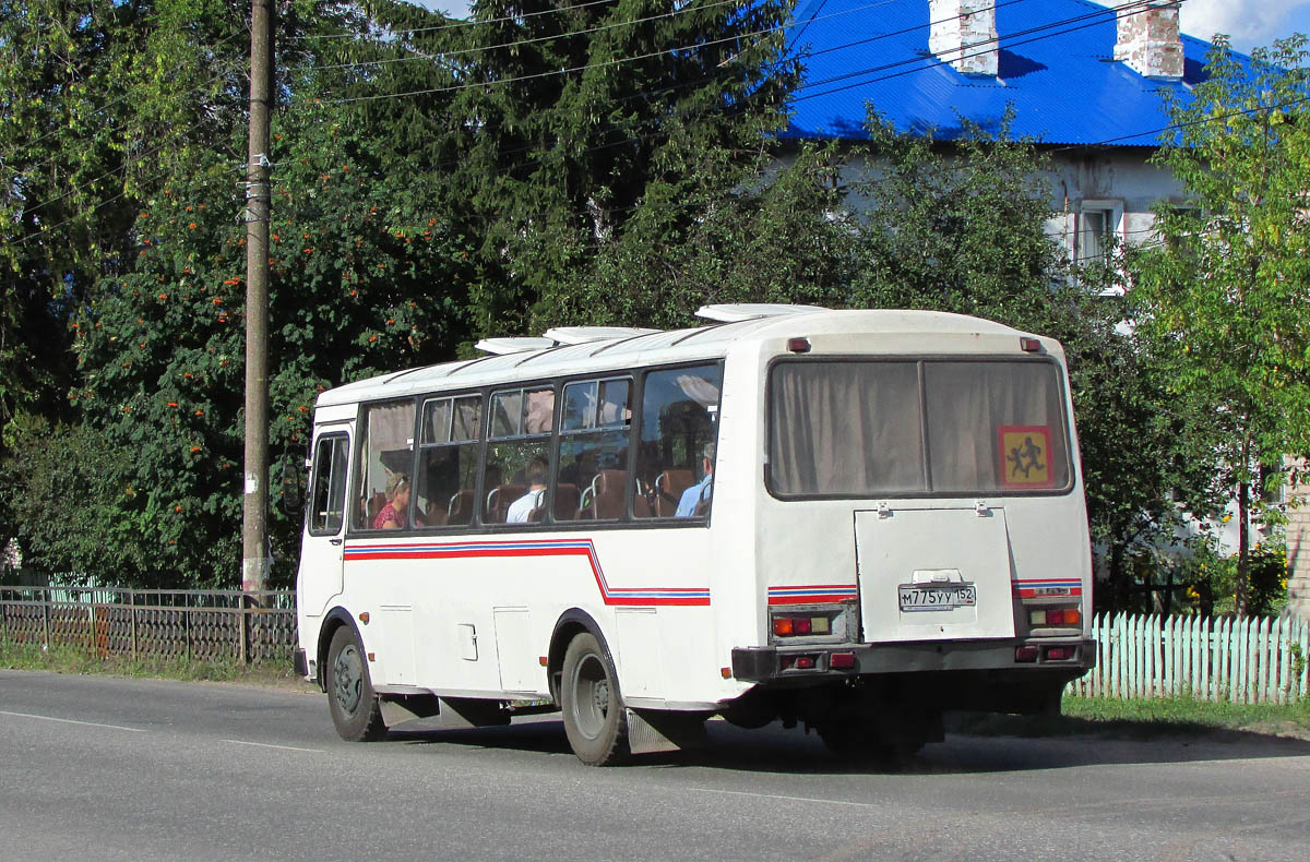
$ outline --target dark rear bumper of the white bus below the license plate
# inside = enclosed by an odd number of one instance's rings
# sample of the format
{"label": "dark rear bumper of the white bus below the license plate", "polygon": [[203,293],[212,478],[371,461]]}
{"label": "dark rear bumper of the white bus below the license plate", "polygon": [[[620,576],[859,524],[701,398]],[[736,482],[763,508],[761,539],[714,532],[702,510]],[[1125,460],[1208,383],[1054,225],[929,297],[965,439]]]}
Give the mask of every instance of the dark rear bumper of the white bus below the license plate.
{"label": "dark rear bumper of the white bus below the license plate", "polygon": [[1013,671],[1017,675],[1064,672],[1072,680],[1095,664],[1096,642],[1085,638],[825,643],[732,650],[735,679],[783,685],[939,671]]}

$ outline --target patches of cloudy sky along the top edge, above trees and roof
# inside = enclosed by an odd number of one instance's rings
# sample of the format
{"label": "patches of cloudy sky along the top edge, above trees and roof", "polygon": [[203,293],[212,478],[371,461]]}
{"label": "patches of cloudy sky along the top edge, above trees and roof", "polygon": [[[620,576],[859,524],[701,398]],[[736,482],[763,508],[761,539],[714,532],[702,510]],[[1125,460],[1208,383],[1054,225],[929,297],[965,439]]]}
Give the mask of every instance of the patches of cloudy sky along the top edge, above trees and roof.
{"label": "patches of cloudy sky along the top edge, above trees and roof", "polygon": [[[1093,1],[1114,7],[1129,0]],[[469,0],[417,0],[417,3],[457,17],[468,14],[469,10]],[[1273,39],[1293,33],[1310,33],[1310,0],[1183,0],[1180,14],[1183,33],[1201,39],[1210,39],[1216,33],[1226,33],[1233,38],[1233,47],[1238,51],[1250,51],[1258,45],[1269,45]]]}

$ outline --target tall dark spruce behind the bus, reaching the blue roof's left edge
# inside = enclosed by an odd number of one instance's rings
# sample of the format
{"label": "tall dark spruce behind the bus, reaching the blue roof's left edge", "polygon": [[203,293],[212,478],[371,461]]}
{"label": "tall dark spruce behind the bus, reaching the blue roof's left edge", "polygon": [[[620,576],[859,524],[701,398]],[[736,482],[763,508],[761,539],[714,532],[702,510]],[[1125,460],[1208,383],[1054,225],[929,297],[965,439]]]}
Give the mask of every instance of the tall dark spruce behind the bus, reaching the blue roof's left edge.
{"label": "tall dark spruce behind the bus, reaching the blue roof's left edge", "polygon": [[[460,208],[483,237],[479,331],[572,322],[595,255],[646,219],[688,227],[696,177],[730,189],[782,126],[798,81],[789,0],[481,0],[449,58]],[[651,207],[667,210],[656,219]],[[662,231],[668,234],[671,227]]]}

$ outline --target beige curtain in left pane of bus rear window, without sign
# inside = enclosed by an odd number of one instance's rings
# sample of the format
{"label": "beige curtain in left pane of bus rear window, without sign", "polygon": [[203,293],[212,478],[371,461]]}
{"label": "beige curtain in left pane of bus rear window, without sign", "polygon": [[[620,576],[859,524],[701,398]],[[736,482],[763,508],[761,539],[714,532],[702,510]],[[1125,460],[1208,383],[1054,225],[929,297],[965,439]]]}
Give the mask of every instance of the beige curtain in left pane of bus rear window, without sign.
{"label": "beige curtain in left pane of bus rear window, without sign", "polygon": [[770,393],[769,469],[777,493],[924,490],[916,363],[781,363]]}

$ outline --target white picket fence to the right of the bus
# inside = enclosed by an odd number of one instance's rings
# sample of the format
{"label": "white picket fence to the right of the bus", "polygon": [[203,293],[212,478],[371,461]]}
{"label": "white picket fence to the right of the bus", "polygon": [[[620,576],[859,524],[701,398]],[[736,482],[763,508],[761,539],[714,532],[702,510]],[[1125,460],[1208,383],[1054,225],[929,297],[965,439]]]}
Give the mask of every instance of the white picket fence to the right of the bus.
{"label": "white picket fence to the right of the bus", "polygon": [[1310,692],[1310,625],[1300,620],[1096,614],[1091,637],[1096,667],[1066,694],[1288,703]]}

